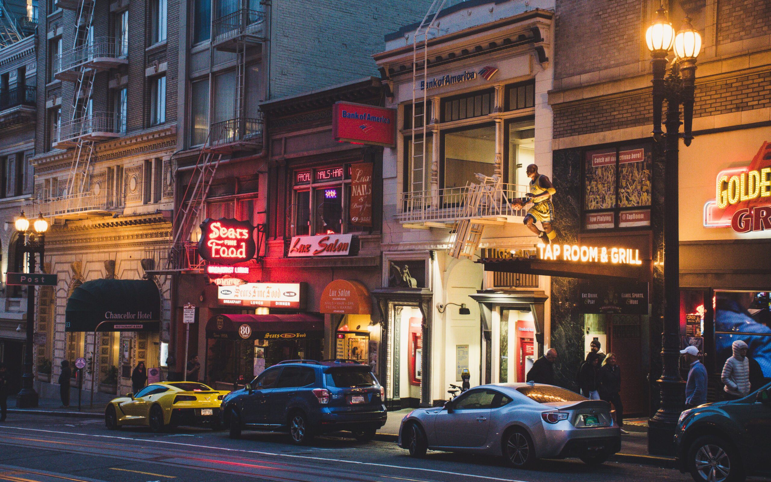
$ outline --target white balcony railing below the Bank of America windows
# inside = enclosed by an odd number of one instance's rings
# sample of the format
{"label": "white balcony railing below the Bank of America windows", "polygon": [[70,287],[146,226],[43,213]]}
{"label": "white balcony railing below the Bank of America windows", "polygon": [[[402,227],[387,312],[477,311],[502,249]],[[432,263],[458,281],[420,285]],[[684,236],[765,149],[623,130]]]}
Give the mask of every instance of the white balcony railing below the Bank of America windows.
{"label": "white balcony railing below the Bank of America windows", "polygon": [[449,227],[462,219],[521,221],[524,209],[512,201],[525,197],[526,186],[517,184],[468,185],[402,193],[395,217],[404,224],[436,223]]}

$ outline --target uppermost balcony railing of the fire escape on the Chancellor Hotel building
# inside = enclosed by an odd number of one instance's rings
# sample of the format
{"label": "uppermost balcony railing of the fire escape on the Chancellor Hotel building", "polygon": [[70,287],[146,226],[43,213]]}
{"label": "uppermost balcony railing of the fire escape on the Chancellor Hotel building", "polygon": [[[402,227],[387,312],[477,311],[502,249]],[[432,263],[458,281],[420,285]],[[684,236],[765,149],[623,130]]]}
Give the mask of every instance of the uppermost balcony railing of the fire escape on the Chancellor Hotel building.
{"label": "uppermost balcony railing of the fire escape on the Chancellor Hotel building", "polygon": [[126,52],[128,52],[128,44],[123,40],[113,37],[97,37],[93,42],[86,42],[75,49],[67,49],[65,52],[57,54],[54,59],[54,64],[58,69],[56,76],[57,78],[73,80],[75,76],[68,75],[67,72],[79,66],[111,69],[128,63],[128,59],[125,58]]}

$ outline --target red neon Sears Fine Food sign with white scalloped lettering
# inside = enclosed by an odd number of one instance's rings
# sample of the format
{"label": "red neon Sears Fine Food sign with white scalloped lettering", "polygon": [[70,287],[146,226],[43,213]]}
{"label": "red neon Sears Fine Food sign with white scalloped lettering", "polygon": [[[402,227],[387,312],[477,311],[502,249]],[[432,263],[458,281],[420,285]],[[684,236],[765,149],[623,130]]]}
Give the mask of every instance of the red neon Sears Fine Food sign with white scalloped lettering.
{"label": "red neon Sears Fine Food sign with white scalloped lettering", "polygon": [[210,263],[234,265],[254,258],[254,226],[232,218],[207,218],[200,225],[198,254]]}

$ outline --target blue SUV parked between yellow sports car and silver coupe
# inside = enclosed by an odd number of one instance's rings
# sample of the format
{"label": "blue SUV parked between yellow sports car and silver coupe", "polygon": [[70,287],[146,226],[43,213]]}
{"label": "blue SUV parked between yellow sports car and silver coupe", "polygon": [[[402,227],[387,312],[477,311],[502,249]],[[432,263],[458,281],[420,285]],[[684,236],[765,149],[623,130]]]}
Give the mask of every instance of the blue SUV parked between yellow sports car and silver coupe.
{"label": "blue SUV parked between yellow sports car and silver coupe", "polygon": [[288,360],[227,394],[220,413],[234,439],[251,428],[288,431],[297,445],[338,430],[365,441],[385,424],[384,398],[385,389],[367,365],[345,359]]}

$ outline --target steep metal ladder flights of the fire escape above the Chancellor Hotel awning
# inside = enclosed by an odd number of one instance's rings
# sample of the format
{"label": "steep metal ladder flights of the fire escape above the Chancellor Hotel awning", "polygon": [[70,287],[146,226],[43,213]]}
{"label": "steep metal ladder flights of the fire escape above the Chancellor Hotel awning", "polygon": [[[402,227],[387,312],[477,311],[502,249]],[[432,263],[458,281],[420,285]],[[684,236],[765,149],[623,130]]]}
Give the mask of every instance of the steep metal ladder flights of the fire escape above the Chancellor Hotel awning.
{"label": "steep metal ladder flights of the fire escape above the Chancellor Hotel awning", "polygon": [[[76,35],[72,45],[72,55],[92,55],[89,42],[93,42],[93,15],[96,2],[81,0],[78,6],[78,22]],[[84,52],[85,51],[85,52]],[[79,54],[78,52],[83,52]],[[64,66],[62,66],[63,68]],[[67,177],[66,194],[76,201],[77,194],[82,194],[88,180],[89,167],[94,152],[93,140],[82,137],[83,130],[89,129],[92,121],[92,97],[94,86],[94,70],[86,66],[78,67],[78,78],[75,83],[75,94],[72,99],[72,123],[70,135],[79,134],[75,151],[72,153],[72,165]],[[80,125],[79,125],[80,123]],[[75,195],[75,196],[73,196]],[[78,201],[76,201],[78,202]]]}

